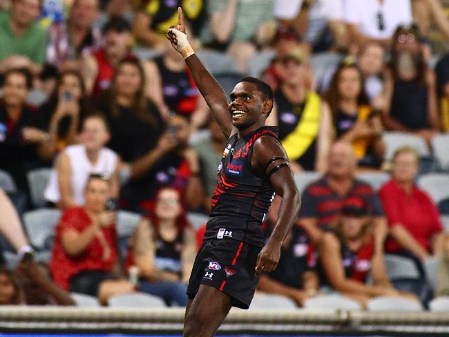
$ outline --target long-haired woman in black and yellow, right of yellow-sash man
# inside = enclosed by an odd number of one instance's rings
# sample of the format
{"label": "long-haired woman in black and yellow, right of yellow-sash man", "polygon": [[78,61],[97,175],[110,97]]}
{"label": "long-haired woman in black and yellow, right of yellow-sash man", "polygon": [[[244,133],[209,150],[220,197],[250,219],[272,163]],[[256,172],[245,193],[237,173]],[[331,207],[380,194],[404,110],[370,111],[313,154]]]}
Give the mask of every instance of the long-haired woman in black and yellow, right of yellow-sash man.
{"label": "long-haired woman in black and yellow, right of yellow-sash man", "polygon": [[381,117],[370,106],[363,74],[353,61],[338,66],[326,100],[332,110],[335,139],[352,144],[359,166],[379,168],[385,153]]}

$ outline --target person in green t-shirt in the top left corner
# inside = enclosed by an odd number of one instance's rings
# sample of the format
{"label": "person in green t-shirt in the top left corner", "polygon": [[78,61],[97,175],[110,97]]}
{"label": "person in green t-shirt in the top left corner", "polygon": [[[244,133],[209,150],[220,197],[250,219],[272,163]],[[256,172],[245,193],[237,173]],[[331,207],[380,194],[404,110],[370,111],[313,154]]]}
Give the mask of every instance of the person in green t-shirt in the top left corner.
{"label": "person in green t-shirt in the top left corner", "polygon": [[0,12],[0,73],[13,68],[41,71],[47,33],[39,26],[41,1],[12,0],[10,11]]}

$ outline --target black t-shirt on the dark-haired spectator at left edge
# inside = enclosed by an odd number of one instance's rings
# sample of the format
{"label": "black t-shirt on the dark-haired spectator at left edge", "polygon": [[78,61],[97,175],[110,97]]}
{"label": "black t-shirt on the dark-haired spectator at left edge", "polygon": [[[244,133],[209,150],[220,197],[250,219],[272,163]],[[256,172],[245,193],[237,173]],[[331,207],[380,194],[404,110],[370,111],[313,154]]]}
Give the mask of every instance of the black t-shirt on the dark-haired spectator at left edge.
{"label": "black t-shirt on the dark-haired spectator at left edge", "polygon": [[36,144],[23,142],[23,128],[32,127],[44,129],[39,114],[30,106],[23,106],[17,122],[12,122],[6,112],[3,102],[0,102],[0,169],[12,175],[17,188],[28,191],[26,172],[44,166],[37,155]]}

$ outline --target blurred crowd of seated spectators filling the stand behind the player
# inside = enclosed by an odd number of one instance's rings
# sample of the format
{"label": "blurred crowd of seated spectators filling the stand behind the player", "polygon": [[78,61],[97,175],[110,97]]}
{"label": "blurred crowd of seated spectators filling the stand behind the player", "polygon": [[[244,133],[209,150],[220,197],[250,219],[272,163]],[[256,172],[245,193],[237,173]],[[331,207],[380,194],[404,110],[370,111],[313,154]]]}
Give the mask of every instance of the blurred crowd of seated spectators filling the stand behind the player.
{"label": "blurred crowd of seated spectators filling the stand behind the player", "polygon": [[449,1],[0,0],[0,304],[186,304],[227,139],[178,6],[228,94],[275,93],[303,206],[260,292],[449,296]]}

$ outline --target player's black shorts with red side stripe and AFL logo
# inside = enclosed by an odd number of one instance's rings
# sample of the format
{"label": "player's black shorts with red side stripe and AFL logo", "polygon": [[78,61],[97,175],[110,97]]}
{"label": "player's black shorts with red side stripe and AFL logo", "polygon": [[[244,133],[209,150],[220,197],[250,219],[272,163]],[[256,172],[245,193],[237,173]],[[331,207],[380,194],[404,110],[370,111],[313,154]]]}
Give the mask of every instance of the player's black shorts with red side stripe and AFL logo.
{"label": "player's black shorts with red side stripe and AFL logo", "polygon": [[254,269],[260,249],[232,239],[205,241],[193,264],[187,296],[193,299],[200,285],[209,285],[226,293],[233,307],[248,309],[259,281]]}

